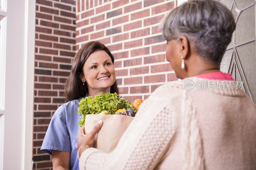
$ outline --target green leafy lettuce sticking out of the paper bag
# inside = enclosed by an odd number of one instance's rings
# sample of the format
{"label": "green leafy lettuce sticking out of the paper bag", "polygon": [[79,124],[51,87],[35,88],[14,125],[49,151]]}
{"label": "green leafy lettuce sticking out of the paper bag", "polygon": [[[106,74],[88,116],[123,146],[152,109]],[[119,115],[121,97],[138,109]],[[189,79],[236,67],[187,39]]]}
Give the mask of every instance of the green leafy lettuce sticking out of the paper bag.
{"label": "green leafy lettuce sticking out of the paper bag", "polygon": [[92,96],[85,97],[80,100],[79,107],[77,108],[78,114],[81,114],[79,121],[80,127],[84,125],[85,115],[99,114],[102,111],[109,111],[109,114],[115,114],[116,110],[125,108],[132,108],[134,113],[136,110],[132,107],[132,103],[124,100],[123,97],[118,97],[117,93],[110,93],[96,95],[93,99]]}

